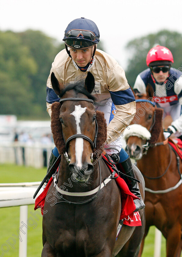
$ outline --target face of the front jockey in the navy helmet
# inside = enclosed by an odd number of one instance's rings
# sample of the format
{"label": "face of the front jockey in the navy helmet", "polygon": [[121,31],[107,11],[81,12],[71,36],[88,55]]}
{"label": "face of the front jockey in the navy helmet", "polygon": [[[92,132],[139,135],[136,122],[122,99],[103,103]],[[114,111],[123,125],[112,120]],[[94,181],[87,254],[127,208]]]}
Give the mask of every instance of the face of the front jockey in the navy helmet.
{"label": "face of the front jockey in the navy helmet", "polygon": [[93,50],[94,47],[79,50],[70,48],[70,54],[79,67],[85,67],[92,60]]}

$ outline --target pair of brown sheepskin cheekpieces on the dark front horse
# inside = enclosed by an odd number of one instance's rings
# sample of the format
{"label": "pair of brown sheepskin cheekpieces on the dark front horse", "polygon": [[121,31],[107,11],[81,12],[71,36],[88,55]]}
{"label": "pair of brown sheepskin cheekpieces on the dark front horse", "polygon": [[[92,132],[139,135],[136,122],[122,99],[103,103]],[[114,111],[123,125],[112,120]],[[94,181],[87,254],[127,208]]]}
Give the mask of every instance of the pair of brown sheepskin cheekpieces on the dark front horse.
{"label": "pair of brown sheepskin cheekpieces on the dark front horse", "polygon": [[[63,139],[62,125],[59,119],[60,107],[61,104],[59,102],[54,102],[51,106],[51,130],[53,133],[54,144],[57,147],[59,154],[62,155],[66,151],[66,147]],[[95,152],[96,150],[102,151],[102,148],[100,147],[105,143],[107,139],[107,124],[103,112],[96,111],[96,121],[98,124],[98,133],[96,148],[93,149],[93,152]]]}

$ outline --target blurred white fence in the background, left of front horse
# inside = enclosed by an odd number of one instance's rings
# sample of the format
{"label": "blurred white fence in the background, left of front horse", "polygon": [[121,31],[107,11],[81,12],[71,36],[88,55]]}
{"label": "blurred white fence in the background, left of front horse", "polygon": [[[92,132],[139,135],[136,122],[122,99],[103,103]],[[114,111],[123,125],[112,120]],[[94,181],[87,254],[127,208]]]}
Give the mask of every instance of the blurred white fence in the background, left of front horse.
{"label": "blurred white fence in the background, left of front horse", "polygon": [[49,156],[54,147],[54,143],[45,145],[39,142],[31,144],[20,142],[1,142],[0,163],[14,163],[17,165],[42,168],[45,166],[45,158],[46,164],[48,164]]}

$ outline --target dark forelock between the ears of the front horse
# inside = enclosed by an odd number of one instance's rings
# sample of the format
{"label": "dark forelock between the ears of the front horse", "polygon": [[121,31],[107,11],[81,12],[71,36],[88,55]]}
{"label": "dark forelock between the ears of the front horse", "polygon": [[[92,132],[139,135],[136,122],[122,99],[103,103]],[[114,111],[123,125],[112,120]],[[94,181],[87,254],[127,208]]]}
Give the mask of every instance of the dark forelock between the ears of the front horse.
{"label": "dark forelock between the ears of the front horse", "polygon": [[91,99],[94,102],[96,102],[96,98],[92,94],[90,94],[86,90],[86,88],[84,88],[84,84],[85,84],[85,79],[77,80],[75,82],[66,84],[64,89],[61,91],[61,94],[59,95],[59,97],[61,98],[67,91],[70,91],[71,89],[73,89],[73,90],[75,90],[76,95],[78,93],[82,93],[83,95],[86,95],[88,97],[88,99]]}

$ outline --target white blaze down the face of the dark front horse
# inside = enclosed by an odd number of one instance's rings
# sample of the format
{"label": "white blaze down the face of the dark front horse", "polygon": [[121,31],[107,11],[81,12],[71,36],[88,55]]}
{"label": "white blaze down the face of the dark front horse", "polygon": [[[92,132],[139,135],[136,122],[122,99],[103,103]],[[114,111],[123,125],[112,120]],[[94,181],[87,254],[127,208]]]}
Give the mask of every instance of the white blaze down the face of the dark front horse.
{"label": "white blaze down the face of the dark front horse", "polygon": [[[75,105],[75,110],[71,113],[75,117],[76,121],[76,132],[81,134],[80,118],[84,114],[87,107],[82,108],[81,105]],[[82,167],[82,153],[83,153],[83,138],[76,138],[75,142],[75,155],[78,167]]]}

